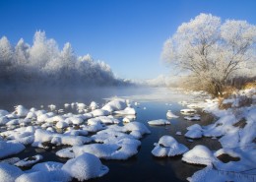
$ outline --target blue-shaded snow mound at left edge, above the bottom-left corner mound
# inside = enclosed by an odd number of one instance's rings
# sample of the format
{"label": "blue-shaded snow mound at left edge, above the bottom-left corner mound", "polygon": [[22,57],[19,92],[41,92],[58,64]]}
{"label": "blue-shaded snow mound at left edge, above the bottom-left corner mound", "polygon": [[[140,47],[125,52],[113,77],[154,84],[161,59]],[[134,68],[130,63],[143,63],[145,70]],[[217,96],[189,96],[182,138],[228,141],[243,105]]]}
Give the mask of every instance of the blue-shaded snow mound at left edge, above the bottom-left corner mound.
{"label": "blue-shaded snow mound at left edge, above the bottom-left corner mound", "polygon": [[16,142],[0,141],[0,158],[17,154],[25,150],[25,146]]}

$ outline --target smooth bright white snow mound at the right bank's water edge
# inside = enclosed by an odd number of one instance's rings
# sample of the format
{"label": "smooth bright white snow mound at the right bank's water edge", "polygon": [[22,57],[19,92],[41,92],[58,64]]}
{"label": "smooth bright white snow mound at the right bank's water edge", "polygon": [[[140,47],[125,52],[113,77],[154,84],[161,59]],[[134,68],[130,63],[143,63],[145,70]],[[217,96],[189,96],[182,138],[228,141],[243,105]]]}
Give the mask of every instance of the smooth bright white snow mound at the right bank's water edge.
{"label": "smooth bright white snow mound at the right bank's water edge", "polygon": [[185,152],[182,160],[188,163],[211,165],[215,161],[215,156],[207,147],[198,145],[189,152]]}

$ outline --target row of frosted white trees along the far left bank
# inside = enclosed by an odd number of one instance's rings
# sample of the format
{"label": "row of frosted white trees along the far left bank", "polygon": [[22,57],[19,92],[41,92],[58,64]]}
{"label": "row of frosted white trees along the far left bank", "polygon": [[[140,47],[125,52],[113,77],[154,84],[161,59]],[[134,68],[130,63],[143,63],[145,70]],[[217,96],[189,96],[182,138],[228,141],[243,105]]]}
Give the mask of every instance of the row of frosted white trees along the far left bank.
{"label": "row of frosted white trees along the far left bank", "polygon": [[0,39],[0,85],[3,86],[115,86],[129,83],[114,77],[111,68],[89,54],[75,55],[71,44],[59,50],[54,39],[36,31],[32,46],[19,40],[12,46]]}

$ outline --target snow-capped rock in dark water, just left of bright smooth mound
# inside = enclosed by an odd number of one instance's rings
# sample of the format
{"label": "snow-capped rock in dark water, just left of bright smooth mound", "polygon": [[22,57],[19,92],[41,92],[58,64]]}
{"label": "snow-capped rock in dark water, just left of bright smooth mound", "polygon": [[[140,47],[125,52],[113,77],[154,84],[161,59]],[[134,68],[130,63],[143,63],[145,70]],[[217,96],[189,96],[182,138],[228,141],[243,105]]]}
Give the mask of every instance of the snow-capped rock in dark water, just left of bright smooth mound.
{"label": "snow-capped rock in dark water, just left of bright smooth mound", "polygon": [[160,157],[179,155],[188,151],[187,147],[179,144],[171,136],[162,136],[159,143],[155,145],[156,147],[152,151],[152,154]]}

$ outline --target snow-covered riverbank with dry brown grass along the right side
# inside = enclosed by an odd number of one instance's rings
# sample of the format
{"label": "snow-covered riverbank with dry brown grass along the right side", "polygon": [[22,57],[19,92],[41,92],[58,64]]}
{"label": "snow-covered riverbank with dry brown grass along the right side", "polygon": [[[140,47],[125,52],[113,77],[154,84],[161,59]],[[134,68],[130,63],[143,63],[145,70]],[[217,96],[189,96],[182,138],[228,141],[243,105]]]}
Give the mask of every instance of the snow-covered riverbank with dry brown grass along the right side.
{"label": "snow-covered riverbank with dry brown grass along the right side", "polygon": [[233,93],[222,103],[228,108],[220,109],[217,98],[187,105],[219,117],[208,126],[191,126],[189,133],[218,138],[222,145],[217,152],[196,146],[183,154],[182,160],[188,163],[207,165],[188,178],[191,182],[256,180],[256,89]]}

